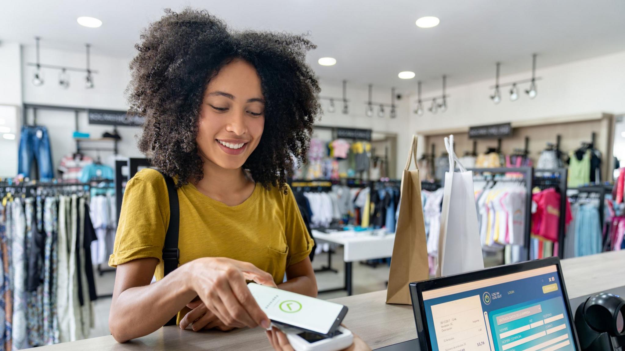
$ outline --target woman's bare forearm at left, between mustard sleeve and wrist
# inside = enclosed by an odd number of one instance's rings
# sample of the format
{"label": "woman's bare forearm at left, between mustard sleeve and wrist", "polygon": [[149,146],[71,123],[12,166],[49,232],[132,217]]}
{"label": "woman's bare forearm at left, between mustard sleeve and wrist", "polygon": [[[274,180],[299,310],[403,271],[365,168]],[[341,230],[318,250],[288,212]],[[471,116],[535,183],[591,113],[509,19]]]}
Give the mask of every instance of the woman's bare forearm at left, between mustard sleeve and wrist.
{"label": "woman's bare forearm at left, between mustard sleeve and wrist", "polygon": [[191,264],[181,265],[154,284],[131,287],[113,299],[109,328],[118,342],[148,335],[168,322],[194,297]]}

